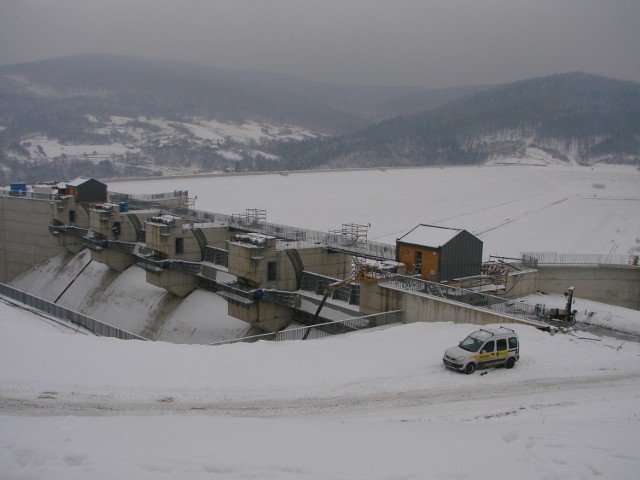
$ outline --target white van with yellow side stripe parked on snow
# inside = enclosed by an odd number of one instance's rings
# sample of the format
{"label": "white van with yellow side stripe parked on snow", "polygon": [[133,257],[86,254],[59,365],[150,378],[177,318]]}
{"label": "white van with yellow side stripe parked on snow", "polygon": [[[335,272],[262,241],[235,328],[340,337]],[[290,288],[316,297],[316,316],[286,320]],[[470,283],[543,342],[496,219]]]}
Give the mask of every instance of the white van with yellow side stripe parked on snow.
{"label": "white van with yellow side stripe parked on snow", "polygon": [[513,368],[520,359],[518,334],[506,327],[481,328],[444,352],[444,365],[473,373],[476,368],[504,365]]}

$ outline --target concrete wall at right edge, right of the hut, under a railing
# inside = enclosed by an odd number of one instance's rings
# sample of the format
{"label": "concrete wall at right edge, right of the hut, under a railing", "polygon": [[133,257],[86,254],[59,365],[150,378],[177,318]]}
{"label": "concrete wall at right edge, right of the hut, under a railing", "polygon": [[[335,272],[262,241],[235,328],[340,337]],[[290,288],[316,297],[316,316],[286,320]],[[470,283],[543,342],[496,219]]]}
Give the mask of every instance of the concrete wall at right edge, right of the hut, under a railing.
{"label": "concrete wall at right edge, right of the hut, under a railing", "polygon": [[538,265],[538,290],[640,310],[640,267],[626,265]]}

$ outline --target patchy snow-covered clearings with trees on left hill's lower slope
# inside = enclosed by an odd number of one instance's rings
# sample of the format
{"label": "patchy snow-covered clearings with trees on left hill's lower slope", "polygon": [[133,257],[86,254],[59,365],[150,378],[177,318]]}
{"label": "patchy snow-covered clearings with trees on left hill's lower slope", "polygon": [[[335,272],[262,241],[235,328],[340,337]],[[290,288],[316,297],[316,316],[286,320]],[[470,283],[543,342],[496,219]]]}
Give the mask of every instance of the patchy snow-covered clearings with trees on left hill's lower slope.
{"label": "patchy snow-covered clearings with trees on left hill's lower slope", "polygon": [[[260,145],[269,141],[300,141],[319,135],[302,127],[268,122],[232,123],[205,118],[181,122],[162,117],[121,116],[103,120],[88,116],[87,120],[89,126],[95,124],[92,133],[111,138],[113,141],[71,144],[33,134],[21,139],[20,145],[23,149],[20,152],[11,151],[7,157],[26,163],[89,161],[99,164],[107,161],[112,163],[116,170],[135,166],[141,169],[140,174],[146,169],[160,175],[187,175],[203,171],[222,171],[225,159],[230,160],[227,162],[227,168],[243,158],[261,156],[265,159],[277,159],[261,149]],[[163,148],[165,151],[177,148],[202,150],[207,152],[214,168],[207,167],[193,154],[185,155],[181,152],[167,156],[160,152]],[[214,162],[213,157],[219,157],[219,161]]]}

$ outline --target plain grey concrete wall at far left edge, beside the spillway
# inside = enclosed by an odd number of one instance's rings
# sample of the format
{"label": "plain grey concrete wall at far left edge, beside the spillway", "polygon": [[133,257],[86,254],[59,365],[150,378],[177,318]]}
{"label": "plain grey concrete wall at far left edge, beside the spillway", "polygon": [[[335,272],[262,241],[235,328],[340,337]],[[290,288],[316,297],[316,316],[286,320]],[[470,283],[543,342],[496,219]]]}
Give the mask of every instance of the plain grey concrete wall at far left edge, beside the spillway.
{"label": "plain grey concrete wall at far left edge, beside the spillway", "polygon": [[51,223],[49,200],[0,196],[0,282],[66,250],[49,233]]}

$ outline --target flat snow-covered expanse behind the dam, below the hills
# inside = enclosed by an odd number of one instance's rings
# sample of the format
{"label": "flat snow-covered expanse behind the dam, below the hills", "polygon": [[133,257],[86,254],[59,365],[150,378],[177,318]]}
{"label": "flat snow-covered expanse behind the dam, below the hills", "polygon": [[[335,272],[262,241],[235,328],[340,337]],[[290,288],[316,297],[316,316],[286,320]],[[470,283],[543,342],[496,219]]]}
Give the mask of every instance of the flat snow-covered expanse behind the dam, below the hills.
{"label": "flat snow-covered expanse behind the dam, below the hills", "polygon": [[[538,160],[540,161],[540,160]],[[463,228],[484,257],[522,252],[640,252],[640,171],[630,166],[492,165],[223,175],[133,182],[109,190],[188,190],[196,208],[267,210],[267,221],[328,232],[368,225],[395,244],[420,223]]]}

